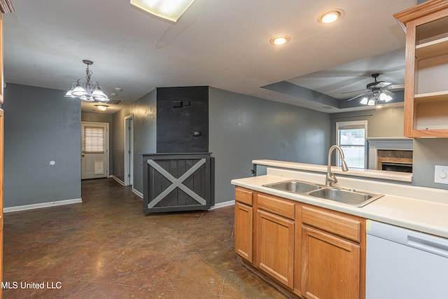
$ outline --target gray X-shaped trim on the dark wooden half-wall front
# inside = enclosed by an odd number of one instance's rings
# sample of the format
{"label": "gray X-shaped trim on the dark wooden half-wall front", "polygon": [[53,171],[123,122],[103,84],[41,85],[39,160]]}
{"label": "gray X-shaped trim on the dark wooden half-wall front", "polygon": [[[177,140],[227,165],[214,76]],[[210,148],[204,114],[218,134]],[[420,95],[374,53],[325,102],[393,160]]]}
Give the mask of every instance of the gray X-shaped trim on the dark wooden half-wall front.
{"label": "gray X-shaped trim on the dark wooden half-wall front", "polygon": [[158,165],[154,160],[148,160],[148,165],[150,165],[151,167],[153,167],[155,170],[157,170],[160,174],[162,174],[163,176],[165,176],[169,181],[172,182],[172,185],[170,185],[168,188],[166,188],[162,193],[160,193],[160,195],[158,195],[158,197],[155,197],[154,200],[152,200],[151,202],[148,203],[148,209],[151,209],[152,207],[154,207],[156,204],[158,204],[163,198],[165,198],[165,196],[169,195],[169,193],[171,193],[174,189],[179,188],[181,190],[183,190],[183,192],[187,193],[190,197],[192,197],[194,200],[196,200],[197,202],[199,202],[202,205],[207,204],[206,200],[204,200],[204,198],[200,197],[199,195],[197,195],[193,190],[191,190],[190,188],[188,188],[187,186],[183,185],[183,181],[185,181],[186,179],[188,179],[188,177],[190,175],[192,175],[197,169],[200,169],[200,167],[202,165],[204,165],[206,162],[206,160],[204,158],[202,158],[201,160],[199,160],[195,165],[193,165],[193,167],[191,167],[190,169],[188,169],[188,171],[183,174],[179,179],[176,179],[174,176],[172,176],[171,174],[169,174],[165,169],[163,169],[162,167],[160,167],[160,165]]}

